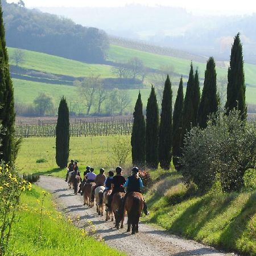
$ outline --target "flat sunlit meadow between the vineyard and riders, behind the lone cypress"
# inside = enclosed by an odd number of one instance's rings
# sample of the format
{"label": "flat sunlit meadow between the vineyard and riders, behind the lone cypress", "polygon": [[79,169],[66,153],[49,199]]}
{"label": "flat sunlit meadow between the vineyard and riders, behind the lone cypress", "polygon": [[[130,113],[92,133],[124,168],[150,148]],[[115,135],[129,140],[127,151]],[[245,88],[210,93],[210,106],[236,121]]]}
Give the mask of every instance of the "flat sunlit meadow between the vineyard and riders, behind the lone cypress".
{"label": "flat sunlit meadow between the vineyard and riders, behind the lone cypress", "polygon": [[[126,137],[126,136],[124,136]],[[118,163],[114,160],[112,147],[117,137],[71,137],[70,159],[79,162],[81,172],[86,166],[92,166],[96,172],[101,167],[115,168]],[[23,138],[22,146],[16,159],[16,165],[21,172],[48,174],[57,177],[65,177],[66,170],[57,168],[55,161],[55,138]],[[38,159],[45,159],[44,163],[36,163]],[[127,165],[131,164],[131,157]]]}

